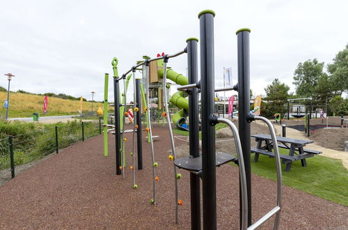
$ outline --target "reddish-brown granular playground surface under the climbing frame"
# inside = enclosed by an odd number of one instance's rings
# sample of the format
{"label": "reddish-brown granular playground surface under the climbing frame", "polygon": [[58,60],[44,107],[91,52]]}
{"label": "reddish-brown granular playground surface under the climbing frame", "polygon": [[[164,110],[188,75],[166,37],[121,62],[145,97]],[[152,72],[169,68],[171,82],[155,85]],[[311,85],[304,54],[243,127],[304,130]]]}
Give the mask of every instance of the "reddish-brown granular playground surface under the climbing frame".
{"label": "reddish-brown granular playground surface under the climbing frame", "polygon": [[[115,174],[114,137],[109,135],[109,157],[103,156],[102,135],[65,148],[0,187],[0,229],[190,229],[189,173],[178,170],[179,224],[174,224],[173,163],[168,161],[168,131],[155,127],[157,205],[152,206],[150,144],[143,135],[143,166],[132,174]],[[127,134],[132,139],[132,134]],[[180,140],[175,139],[180,145]],[[132,141],[127,141],[130,150]],[[127,151],[127,152],[128,152]],[[127,162],[131,162],[129,155]],[[128,164],[129,165],[129,164]],[[276,183],[252,176],[253,221],[276,204]],[[216,169],[218,229],[239,228],[238,168]],[[280,229],[347,229],[348,207],[283,187]],[[270,229],[272,222],[261,229]]]}

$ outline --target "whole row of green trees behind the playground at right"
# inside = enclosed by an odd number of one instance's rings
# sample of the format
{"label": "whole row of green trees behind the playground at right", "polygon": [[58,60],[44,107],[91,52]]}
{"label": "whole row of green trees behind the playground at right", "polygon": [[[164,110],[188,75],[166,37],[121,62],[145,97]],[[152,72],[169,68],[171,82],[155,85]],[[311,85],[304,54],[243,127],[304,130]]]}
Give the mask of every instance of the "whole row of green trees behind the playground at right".
{"label": "whole row of green trees behind the playground at right", "polygon": [[[262,116],[285,114],[287,99],[291,98],[313,98],[313,109],[316,106],[325,109],[324,105],[327,105],[328,111],[325,112],[328,116],[348,115],[348,98],[342,98],[342,93],[348,93],[348,44],[336,54],[333,63],[326,66],[317,59],[299,63],[293,79],[295,93],[289,93],[290,87],[278,78],[264,89],[266,97],[261,106]],[[308,105],[309,102],[300,103]]]}

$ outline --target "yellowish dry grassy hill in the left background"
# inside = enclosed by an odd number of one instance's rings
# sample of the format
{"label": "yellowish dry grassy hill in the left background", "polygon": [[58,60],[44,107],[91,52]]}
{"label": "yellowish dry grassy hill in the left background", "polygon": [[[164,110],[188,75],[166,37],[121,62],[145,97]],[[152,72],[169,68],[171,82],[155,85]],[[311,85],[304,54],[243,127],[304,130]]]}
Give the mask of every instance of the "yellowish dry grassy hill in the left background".
{"label": "yellowish dry grassy hill in the left background", "polygon": [[[0,91],[0,117],[4,117],[6,109],[3,107],[3,101],[6,100],[7,92]],[[56,97],[48,97],[47,114],[43,114],[44,95],[35,95],[31,93],[13,93],[10,92],[10,109],[8,117],[30,117],[33,113],[39,113],[40,116],[56,116],[78,114],[80,101],[66,100]],[[102,103],[93,102],[93,111],[97,111],[98,107],[102,107]],[[90,112],[92,108],[91,102],[83,102],[83,112]],[[102,108],[103,109],[103,108]]]}

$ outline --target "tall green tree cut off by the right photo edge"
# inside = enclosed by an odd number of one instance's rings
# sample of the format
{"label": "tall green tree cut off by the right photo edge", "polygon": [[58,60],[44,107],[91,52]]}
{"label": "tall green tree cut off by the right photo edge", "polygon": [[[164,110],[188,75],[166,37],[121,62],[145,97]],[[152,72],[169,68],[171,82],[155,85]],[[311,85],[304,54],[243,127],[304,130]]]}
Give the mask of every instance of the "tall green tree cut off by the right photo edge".
{"label": "tall green tree cut off by the right photo edge", "polygon": [[333,82],[333,90],[336,94],[348,92],[348,44],[345,49],[338,52],[333,63],[327,66]]}

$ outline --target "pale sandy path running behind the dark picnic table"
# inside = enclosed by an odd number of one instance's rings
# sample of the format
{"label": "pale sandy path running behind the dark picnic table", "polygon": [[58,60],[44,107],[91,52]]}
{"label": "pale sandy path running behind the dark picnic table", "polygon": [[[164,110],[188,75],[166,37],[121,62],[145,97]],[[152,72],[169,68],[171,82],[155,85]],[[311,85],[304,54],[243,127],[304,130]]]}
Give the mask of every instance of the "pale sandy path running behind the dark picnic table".
{"label": "pale sandy path running behind the dark picnic table", "polygon": [[[281,134],[282,127],[279,124],[275,124],[276,133]],[[332,131],[332,130],[329,130]],[[296,139],[308,139],[305,132],[300,132],[299,130],[295,130],[293,128],[287,128],[286,129],[286,136],[292,137]],[[316,141],[312,144],[306,145],[306,148],[315,150],[315,151],[322,151],[322,156],[328,157],[328,158],[335,158],[342,160],[343,166],[345,166],[348,169],[348,153],[345,151],[336,151],[331,148],[325,148],[319,144],[317,144]]]}

